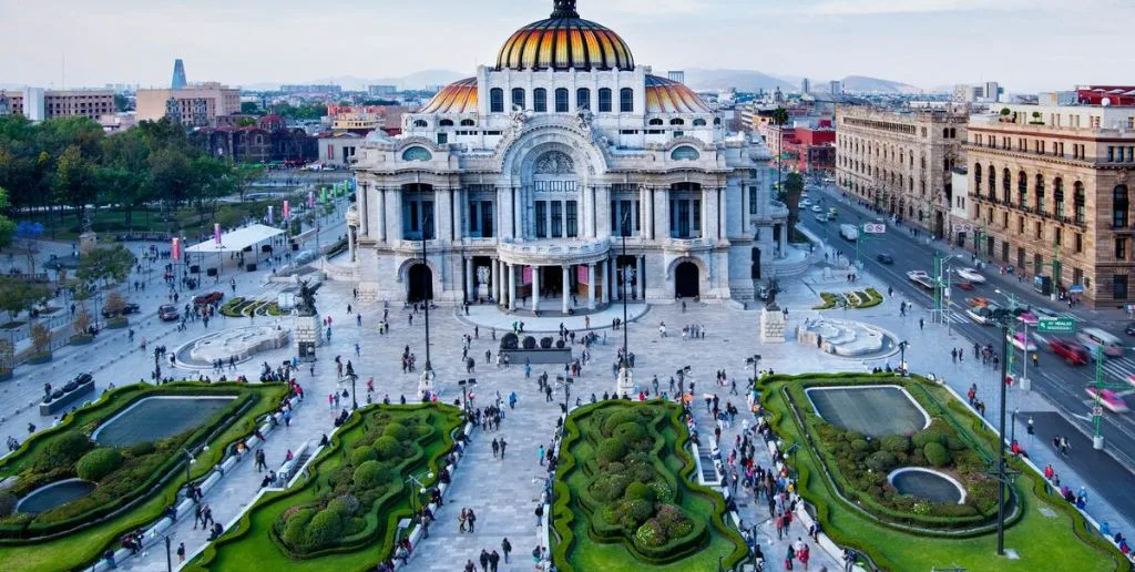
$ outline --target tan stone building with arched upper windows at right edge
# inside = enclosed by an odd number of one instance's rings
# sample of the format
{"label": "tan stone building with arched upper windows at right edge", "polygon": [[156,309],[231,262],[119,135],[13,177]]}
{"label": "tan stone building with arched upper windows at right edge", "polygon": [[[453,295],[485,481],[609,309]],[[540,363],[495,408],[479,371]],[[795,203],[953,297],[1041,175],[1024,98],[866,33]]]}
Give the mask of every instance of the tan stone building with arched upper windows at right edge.
{"label": "tan stone building with arched upper windows at right edge", "polygon": [[1130,300],[1135,107],[999,104],[967,131],[970,245],[1090,303]]}

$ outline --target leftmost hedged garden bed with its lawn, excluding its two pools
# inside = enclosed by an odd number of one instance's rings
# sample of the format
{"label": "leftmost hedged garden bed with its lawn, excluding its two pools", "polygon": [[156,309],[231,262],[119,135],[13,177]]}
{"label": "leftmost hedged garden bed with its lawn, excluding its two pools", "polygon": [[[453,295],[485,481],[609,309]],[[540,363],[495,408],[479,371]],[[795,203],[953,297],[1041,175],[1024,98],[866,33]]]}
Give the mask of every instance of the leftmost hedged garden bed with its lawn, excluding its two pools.
{"label": "leftmost hedged garden bed with its lawn, excluding its two pools", "polygon": [[[98,560],[123,535],[153,522],[174,504],[185,485],[184,448],[209,445],[192,465],[193,478],[201,477],[230,445],[252,435],[257,419],[287,393],[283,385],[134,384],[104,393],[58,427],[36,434],[0,463],[0,479],[16,479],[0,493],[0,570],[70,570]],[[170,396],[235,398],[170,437],[126,447],[91,438],[138,401]],[[19,497],[75,478],[95,483],[94,490],[36,514],[14,511]]]}

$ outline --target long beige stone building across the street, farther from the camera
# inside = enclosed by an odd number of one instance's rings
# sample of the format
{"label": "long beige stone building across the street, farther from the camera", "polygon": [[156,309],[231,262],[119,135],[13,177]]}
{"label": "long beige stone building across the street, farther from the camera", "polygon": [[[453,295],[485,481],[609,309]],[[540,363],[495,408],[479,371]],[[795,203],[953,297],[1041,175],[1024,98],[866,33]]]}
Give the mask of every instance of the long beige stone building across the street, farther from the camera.
{"label": "long beige stone building across the street, farther from the camera", "polygon": [[950,170],[964,165],[967,115],[953,110],[835,111],[836,182],[894,220],[935,236],[949,232]]}

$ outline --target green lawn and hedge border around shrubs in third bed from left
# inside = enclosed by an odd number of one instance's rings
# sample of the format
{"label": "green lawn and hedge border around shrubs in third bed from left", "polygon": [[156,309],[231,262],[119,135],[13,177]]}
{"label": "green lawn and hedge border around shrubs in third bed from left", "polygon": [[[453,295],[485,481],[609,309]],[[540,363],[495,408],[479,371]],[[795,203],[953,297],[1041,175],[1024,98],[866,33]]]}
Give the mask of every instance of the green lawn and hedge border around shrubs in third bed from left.
{"label": "green lawn and hedge border around shrubs in third bed from left", "polygon": [[[747,554],[747,548],[740,535],[726,524],[722,518],[724,500],[714,490],[695,485],[696,465],[690,454],[684,449],[689,432],[684,423],[679,421],[680,409],[663,402],[649,402],[649,406],[659,407],[663,412],[653,424],[654,431],[662,438],[662,444],[653,449],[662,466],[670,472],[678,483],[674,504],[688,515],[709,522],[708,539],[690,556],[670,563],[654,563],[640,560],[637,550],[629,548],[629,541],[598,541],[590,532],[588,519],[602,519],[599,514],[590,514],[579,499],[579,491],[588,487],[597,471],[594,464],[596,446],[603,439],[592,414],[609,407],[641,407],[630,402],[608,401],[585,406],[572,413],[574,422],[568,424],[568,435],[561,448],[561,470],[557,473],[556,497],[554,508],[556,531],[553,538],[553,556],[556,565],[564,571],[639,571],[651,570],[716,570],[720,558],[733,562]],[[566,461],[566,462],[565,462]],[[568,500],[558,500],[568,498]],[[564,533],[566,532],[566,533]],[[560,538],[556,538],[560,537]]]}

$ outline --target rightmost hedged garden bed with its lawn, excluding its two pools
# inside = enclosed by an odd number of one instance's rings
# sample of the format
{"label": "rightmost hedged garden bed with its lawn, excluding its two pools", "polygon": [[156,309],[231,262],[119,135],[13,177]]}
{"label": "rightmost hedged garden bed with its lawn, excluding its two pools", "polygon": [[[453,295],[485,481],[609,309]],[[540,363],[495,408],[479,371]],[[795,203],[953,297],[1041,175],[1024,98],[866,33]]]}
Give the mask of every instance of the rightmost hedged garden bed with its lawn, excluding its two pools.
{"label": "rightmost hedged garden bed with its lawn, excluding its two pools", "polygon": [[[897,385],[930,414],[931,426],[911,435],[877,439],[848,435],[817,415],[806,389]],[[800,495],[816,507],[825,532],[841,545],[869,555],[883,570],[961,566],[1007,571],[1128,570],[1123,555],[1087,525],[1044,480],[1010,457],[1020,471],[1006,547],[1019,558],[995,556],[997,485],[982,473],[997,454],[997,434],[949,390],[914,376],[814,373],[771,376],[757,384],[764,414],[785,446],[801,444],[789,464]],[[892,459],[893,457],[893,459]],[[899,495],[886,482],[897,466],[931,466],[952,474],[969,493],[966,504],[935,504]],[[991,504],[992,503],[992,504]]]}

